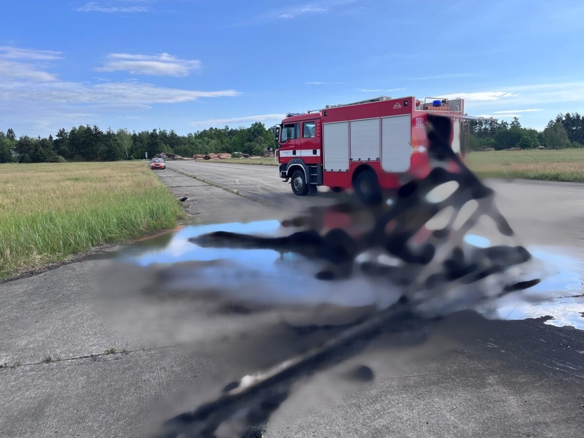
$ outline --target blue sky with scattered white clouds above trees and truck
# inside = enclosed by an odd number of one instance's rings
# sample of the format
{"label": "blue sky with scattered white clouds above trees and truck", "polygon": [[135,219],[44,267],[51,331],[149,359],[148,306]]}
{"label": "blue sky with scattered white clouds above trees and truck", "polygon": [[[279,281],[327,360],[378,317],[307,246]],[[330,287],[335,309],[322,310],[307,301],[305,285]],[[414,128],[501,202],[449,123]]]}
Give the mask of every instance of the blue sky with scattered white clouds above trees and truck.
{"label": "blue sky with scattered white clouds above trees and truck", "polygon": [[584,113],[584,3],[0,0],[0,130],[276,124],[385,96],[463,97],[543,129]]}

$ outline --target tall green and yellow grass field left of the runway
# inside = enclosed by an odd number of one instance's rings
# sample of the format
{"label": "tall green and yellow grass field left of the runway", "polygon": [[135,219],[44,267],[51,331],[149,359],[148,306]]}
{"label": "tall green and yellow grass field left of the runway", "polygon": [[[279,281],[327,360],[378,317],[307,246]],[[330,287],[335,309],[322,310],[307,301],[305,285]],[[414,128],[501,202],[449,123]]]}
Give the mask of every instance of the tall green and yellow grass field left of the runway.
{"label": "tall green and yellow grass field left of the runway", "polygon": [[0,279],[176,225],[143,162],[0,165]]}

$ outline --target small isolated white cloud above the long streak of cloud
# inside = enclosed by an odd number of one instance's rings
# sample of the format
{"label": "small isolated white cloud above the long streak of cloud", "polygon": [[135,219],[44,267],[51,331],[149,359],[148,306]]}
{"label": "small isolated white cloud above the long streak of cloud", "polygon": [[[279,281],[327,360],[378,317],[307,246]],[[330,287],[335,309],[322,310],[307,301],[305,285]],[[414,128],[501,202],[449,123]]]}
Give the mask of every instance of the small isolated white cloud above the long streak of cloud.
{"label": "small isolated white cloud above the long streak of cloud", "polygon": [[103,67],[95,68],[100,72],[127,71],[134,75],[188,76],[201,68],[199,59],[180,59],[168,53],[157,55],[138,55],[110,53],[109,61]]}

